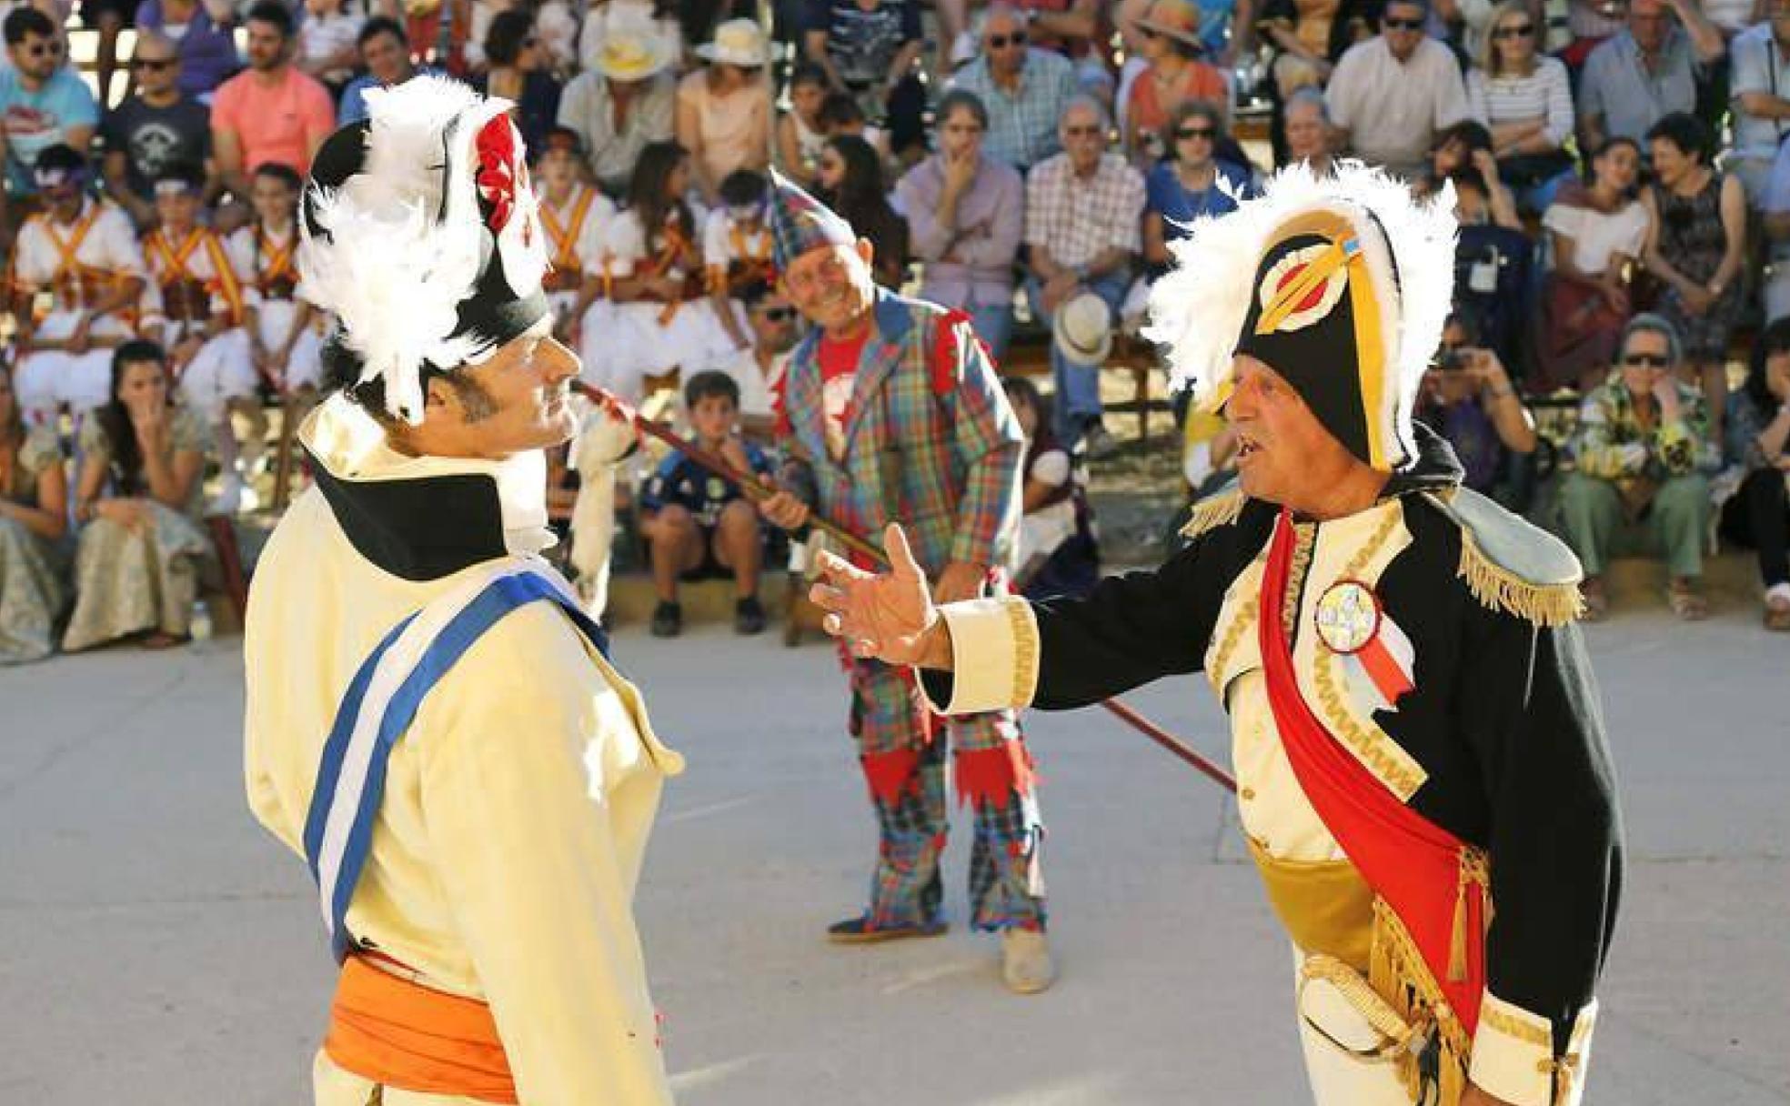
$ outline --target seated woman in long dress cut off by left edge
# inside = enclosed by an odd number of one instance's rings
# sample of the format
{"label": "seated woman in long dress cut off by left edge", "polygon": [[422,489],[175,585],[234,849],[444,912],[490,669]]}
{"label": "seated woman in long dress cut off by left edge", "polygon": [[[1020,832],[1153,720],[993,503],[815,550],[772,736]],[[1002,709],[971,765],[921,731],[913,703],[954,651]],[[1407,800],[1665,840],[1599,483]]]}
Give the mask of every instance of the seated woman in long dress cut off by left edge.
{"label": "seated woman in long dress cut off by left edge", "polygon": [[43,660],[68,603],[61,540],[68,478],[55,431],[25,430],[13,370],[0,365],[0,664]]}

